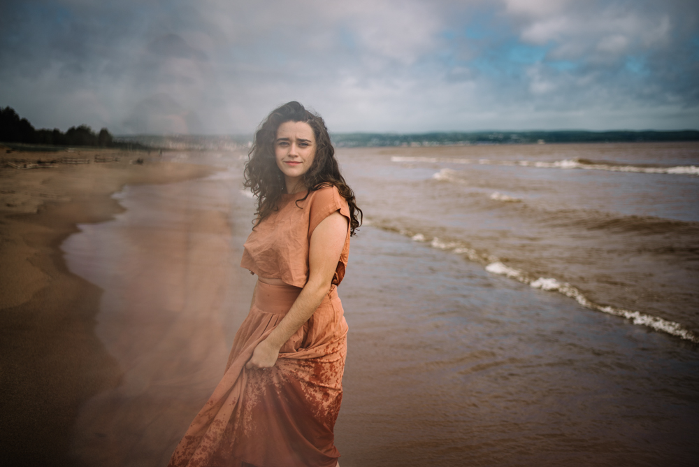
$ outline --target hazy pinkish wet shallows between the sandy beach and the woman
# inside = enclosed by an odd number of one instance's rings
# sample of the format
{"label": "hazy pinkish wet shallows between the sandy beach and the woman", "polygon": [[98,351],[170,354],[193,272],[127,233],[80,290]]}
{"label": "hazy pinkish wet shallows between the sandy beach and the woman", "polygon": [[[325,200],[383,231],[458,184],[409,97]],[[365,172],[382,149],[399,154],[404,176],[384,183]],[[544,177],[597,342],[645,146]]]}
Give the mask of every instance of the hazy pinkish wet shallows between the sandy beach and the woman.
{"label": "hazy pinkish wet shallows between the sandy beach and the woman", "polygon": [[145,206],[122,201],[116,221],[64,244],[71,269],[106,291],[96,333],[124,372],[80,410],[72,452],[87,465],[166,464],[222,376],[253,280],[238,271],[230,206],[206,200],[222,188],[131,188]]}

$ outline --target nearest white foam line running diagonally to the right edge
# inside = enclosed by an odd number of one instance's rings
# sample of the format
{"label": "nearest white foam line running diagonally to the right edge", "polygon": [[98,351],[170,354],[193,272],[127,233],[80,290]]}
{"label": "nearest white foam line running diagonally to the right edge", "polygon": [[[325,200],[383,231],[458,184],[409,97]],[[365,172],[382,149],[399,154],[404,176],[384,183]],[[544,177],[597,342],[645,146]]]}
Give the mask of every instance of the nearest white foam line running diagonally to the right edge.
{"label": "nearest white foam line running diagonally to the right edge", "polygon": [[[400,231],[401,235],[410,236],[410,238],[416,242],[425,243],[427,242],[426,236],[424,234],[414,234],[410,231],[402,229]],[[472,248],[465,247],[459,242],[444,242],[437,237],[433,237],[429,241],[429,245],[438,250],[451,250],[455,254],[464,254],[470,261],[478,262],[483,264],[487,262],[485,270],[491,274],[504,275],[507,278],[517,280],[523,284],[532,287],[533,289],[542,289],[547,292],[559,292],[571,299],[577,301],[581,306],[588,308],[589,310],[601,311],[609,315],[619,316],[629,319],[633,324],[639,326],[647,326],[656,331],[661,331],[668,333],[672,336],[677,336],[682,339],[689,340],[693,343],[699,343],[699,336],[697,336],[689,329],[686,329],[682,324],[676,323],[674,321],[669,321],[668,319],[659,318],[656,316],[646,315],[642,312],[625,310],[624,308],[615,308],[613,306],[601,306],[598,303],[590,301],[582,292],[570,285],[568,282],[559,282],[554,278],[538,278],[532,280],[529,278],[528,274],[517,268],[512,268],[507,266],[497,257],[492,255],[484,255]]]}

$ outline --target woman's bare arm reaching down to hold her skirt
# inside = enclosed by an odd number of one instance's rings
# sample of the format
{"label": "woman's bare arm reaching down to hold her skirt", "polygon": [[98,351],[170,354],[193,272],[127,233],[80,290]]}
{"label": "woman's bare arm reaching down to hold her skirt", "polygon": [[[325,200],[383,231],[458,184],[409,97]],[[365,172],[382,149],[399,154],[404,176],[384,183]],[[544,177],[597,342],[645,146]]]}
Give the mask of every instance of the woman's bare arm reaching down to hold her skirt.
{"label": "woman's bare arm reaching down to hold her skirt", "polygon": [[336,211],[315,228],[308,249],[308,282],[277,327],[255,347],[245,368],[274,366],[282,345],[294,335],[320,306],[335,275],[347,238],[347,217]]}

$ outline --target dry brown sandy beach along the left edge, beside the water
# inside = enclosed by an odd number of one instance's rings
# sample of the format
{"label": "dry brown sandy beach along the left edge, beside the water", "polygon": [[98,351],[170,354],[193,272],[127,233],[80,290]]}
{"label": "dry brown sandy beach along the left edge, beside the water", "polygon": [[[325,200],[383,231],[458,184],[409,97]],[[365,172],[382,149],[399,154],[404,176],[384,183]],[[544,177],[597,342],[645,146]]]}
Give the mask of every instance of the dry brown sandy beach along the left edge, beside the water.
{"label": "dry brown sandy beach along the left edge, beside the water", "polygon": [[[37,159],[6,152],[0,161]],[[69,271],[61,245],[78,224],[124,212],[112,198],[125,185],[201,178],[210,166],[145,159],[140,152],[52,153],[89,164],[0,169],[0,410],[3,464],[72,465],[71,427],[78,408],[119,385],[122,369],[96,337],[103,290]],[[119,157],[96,164],[94,157]],[[131,161],[144,158],[143,164]]]}

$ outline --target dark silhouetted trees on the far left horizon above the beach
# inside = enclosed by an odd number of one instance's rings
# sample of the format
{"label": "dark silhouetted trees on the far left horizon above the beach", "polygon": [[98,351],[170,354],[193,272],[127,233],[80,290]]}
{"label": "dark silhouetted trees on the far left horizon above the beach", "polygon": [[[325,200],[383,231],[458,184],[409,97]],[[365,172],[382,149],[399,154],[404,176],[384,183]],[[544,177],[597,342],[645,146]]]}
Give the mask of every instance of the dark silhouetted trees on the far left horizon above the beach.
{"label": "dark silhouetted trees on the far left horizon above the beach", "polygon": [[0,107],[0,141],[4,143],[27,143],[64,146],[121,146],[114,141],[106,128],[99,133],[87,125],[71,127],[63,133],[59,129],[35,129],[26,118],[20,118],[11,107]]}

